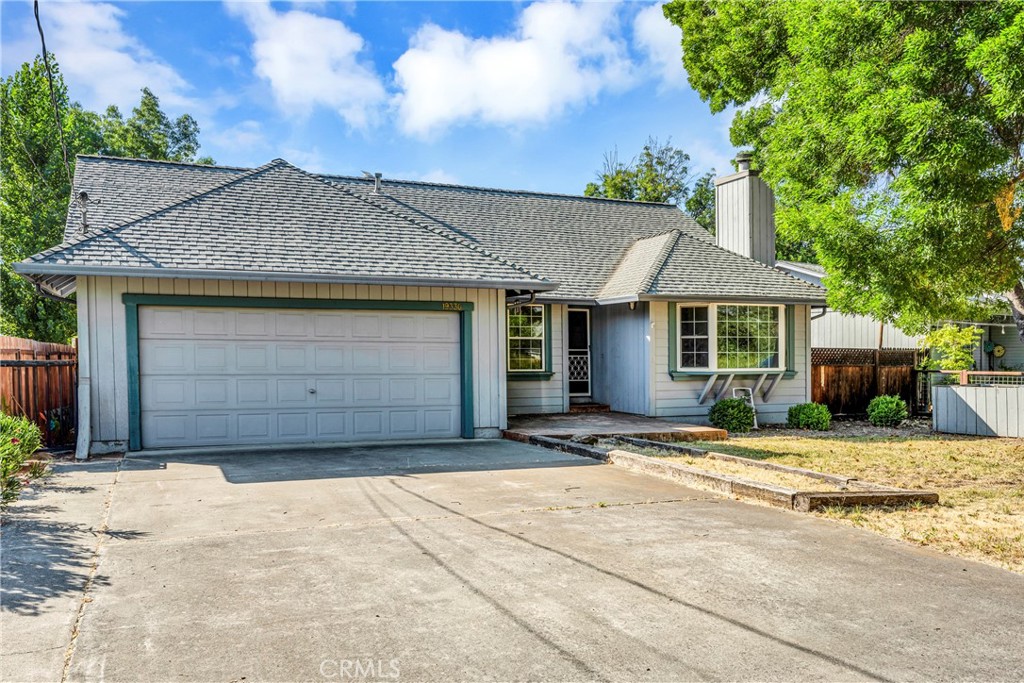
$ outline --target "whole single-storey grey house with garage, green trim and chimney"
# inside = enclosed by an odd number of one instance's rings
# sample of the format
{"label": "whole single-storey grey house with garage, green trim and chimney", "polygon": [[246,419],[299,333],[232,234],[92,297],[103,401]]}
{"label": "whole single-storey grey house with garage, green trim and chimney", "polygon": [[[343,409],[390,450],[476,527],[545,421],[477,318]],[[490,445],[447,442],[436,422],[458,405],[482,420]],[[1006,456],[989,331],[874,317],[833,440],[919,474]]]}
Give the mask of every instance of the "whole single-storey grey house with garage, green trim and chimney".
{"label": "whole single-storey grey house with garage, green trim and chimney", "polygon": [[810,399],[817,286],[774,267],[773,200],[718,180],[719,244],[671,205],[82,156],[65,241],[14,265],[76,293],[79,454],[496,437],[572,401],[764,422]]}

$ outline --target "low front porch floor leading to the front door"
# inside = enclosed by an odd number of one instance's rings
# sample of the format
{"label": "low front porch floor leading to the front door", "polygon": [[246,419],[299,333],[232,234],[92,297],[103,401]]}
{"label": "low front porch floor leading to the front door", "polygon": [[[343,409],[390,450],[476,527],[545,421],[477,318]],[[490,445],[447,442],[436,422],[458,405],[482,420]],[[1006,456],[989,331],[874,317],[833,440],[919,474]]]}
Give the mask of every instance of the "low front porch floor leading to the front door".
{"label": "low front porch floor leading to the front door", "polygon": [[528,441],[530,436],[571,437],[578,434],[612,436],[625,434],[657,441],[720,441],[724,429],[689,425],[626,413],[587,413],[558,415],[520,415],[509,418],[505,438]]}

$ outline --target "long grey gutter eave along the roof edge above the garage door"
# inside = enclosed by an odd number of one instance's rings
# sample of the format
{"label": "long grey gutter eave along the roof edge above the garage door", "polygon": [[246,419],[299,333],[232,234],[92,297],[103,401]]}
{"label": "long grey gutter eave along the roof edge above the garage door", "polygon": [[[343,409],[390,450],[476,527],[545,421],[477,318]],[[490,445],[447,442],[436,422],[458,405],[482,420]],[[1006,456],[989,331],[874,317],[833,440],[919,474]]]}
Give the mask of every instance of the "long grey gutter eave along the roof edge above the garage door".
{"label": "long grey gutter eave along the roof edge above the garage door", "polygon": [[[389,285],[398,287],[458,287],[462,289],[524,290],[550,292],[557,283],[539,280],[459,280],[449,278],[394,278],[378,275],[341,275],[316,272],[279,272],[259,270],[210,270],[203,268],[135,268],[127,266],[74,266],[46,263],[14,263],[14,271],[30,282],[45,287],[45,278],[36,275],[82,275],[115,278],[168,278],[173,280],[227,280],[250,282],[322,283],[331,285]],[[73,290],[72,290],[73,291]],[[70,293],[70,292],[69,292]],[[67,296],[67,295],[61,295]]]}

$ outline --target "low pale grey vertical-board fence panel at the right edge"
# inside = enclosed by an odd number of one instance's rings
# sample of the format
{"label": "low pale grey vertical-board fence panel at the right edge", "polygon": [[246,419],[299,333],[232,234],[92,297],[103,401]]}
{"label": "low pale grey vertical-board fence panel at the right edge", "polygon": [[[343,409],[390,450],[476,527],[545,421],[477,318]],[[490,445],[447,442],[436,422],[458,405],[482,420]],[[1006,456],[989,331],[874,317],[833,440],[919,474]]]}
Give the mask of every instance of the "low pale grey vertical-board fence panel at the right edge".
{"label": "low pale grey vertical-board fence panel at the right edge", "polygon": [[1024,386],[932,387],[932,428],[947,434],[1024,437]]}

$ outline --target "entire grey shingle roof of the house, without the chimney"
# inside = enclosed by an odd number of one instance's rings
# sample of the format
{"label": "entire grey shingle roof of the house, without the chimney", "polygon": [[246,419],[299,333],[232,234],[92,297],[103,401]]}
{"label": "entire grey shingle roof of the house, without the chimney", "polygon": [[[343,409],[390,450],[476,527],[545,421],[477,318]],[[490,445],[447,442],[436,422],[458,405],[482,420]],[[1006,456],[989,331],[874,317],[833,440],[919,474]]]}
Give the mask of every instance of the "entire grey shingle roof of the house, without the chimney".
{"label": "entire grey shingle roof of the house, without the chimney", "polygon": [[[227,191],[240,178],[247,180]],[[75,188],[99,200],[89,205],[93,227],[135,222],[83,241],[75,234],[80,218],[73,205],[67,237],[74,244],[18,264],[19,271],[63,264],[67,280],[70,269],[95,263],[283,278],[446,274],[518,280],[508,289],[544,291],[557,283],[544,295],[549,300],[824,300],[820,288],[717,247],[666,204],[390,179],[375,195],[372,179],[314,177],[285,162],[257,173],[103,157],[79,158]],[[173,211],[161,211],[172,204]]]}

